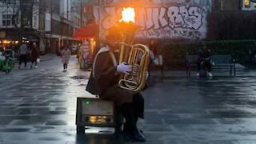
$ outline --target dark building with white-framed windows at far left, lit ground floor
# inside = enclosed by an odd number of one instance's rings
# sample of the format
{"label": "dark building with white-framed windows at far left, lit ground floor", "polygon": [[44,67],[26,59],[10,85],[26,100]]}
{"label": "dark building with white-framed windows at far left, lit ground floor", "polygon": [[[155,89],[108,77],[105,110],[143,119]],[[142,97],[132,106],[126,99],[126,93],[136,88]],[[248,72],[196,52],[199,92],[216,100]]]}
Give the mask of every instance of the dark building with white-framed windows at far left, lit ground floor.
{"label": "dark building with white-framed windows at far left, lit ground floor", "polygon": [[0,43],[18,48],[21,42],[38,42],[33,28],[34,0],[0,0]]}

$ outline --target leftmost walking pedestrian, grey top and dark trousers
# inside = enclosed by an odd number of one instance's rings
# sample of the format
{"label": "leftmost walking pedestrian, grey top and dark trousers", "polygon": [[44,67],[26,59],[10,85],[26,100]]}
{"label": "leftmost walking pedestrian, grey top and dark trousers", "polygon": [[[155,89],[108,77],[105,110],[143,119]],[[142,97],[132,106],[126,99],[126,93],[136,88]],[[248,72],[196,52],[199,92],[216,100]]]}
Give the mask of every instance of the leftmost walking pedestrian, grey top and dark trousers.
{"label": "leftmost walking pedestrian, grey top and dark trousers", "polygon": [[24,62],[24,66],[26,68],[27,55],[29,53],[28,47],[25,42],[22,42],[22,45],[19,46],[18,54],[19,54],[19,64],[18,69],[21,69],[22,62]]}

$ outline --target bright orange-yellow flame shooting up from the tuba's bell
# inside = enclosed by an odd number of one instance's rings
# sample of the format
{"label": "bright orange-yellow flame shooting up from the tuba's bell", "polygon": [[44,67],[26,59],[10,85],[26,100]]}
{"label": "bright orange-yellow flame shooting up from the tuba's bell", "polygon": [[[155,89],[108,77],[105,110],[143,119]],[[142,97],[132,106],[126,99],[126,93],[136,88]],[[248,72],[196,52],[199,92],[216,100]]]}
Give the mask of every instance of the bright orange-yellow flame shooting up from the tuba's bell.
{"label": "bright orange-yellow flame shooting up from the tuba's bell", "polygon": [[119,22],[135,22],[135,10],[132,7],[122,9],[122,19]]}

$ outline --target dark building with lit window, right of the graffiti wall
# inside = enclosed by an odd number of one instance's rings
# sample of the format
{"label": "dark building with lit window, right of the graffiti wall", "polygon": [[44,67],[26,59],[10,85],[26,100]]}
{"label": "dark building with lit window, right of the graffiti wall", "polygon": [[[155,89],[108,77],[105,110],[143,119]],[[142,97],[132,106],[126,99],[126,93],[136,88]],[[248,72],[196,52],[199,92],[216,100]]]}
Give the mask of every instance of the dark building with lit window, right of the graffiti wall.
{"label": "dark building with lit window, right of the graffiti wall", "polygon": [[207,39],[256,39],[256,1],[214,0]]}

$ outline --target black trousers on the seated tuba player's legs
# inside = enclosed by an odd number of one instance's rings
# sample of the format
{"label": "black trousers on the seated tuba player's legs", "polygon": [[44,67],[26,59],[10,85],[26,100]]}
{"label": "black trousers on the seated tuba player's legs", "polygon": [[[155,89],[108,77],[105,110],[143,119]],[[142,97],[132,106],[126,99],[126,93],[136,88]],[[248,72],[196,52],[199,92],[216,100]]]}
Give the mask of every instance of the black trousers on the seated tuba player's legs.
{"label": "black trousers on the seated tuba player's legs", "polygon": [[144,118],[144,98],[141,94],[134,94],[133,102],[123,103],[120,111],[126,119],[124,131],[137,130],[138,118]]}

